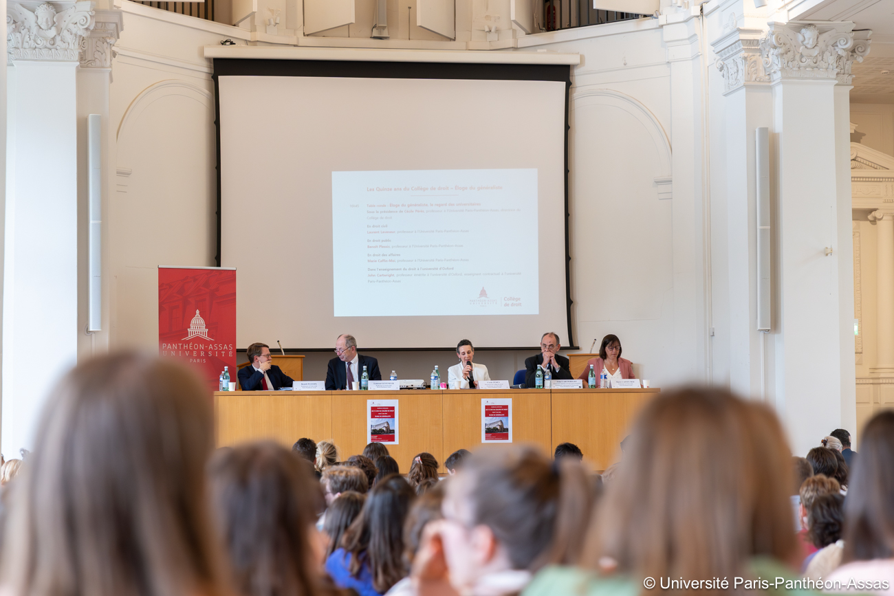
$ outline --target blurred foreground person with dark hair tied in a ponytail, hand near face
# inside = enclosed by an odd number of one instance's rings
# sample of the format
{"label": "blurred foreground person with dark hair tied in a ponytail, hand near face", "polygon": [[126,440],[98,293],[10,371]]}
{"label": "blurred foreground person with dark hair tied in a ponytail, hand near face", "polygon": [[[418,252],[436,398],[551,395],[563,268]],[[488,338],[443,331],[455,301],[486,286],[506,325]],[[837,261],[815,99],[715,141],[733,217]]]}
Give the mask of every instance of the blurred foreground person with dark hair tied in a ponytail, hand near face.
{"label": "blurred foreground person with dark hair tied in a ponytail, hand near face", "polygon": [[419,594],[518,594],[537,569],[576,560],[591,508],[574,461],[530,446],[482,450],[451,478],[444,519],[413,564]]}

